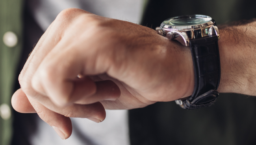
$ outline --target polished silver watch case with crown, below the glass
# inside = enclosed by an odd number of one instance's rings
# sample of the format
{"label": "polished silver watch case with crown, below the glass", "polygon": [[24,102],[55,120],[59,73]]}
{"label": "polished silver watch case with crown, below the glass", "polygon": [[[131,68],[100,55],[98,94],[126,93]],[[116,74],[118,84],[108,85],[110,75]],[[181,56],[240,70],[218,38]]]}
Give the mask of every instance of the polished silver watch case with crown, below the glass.
{"label": "polished silver watch case with crown, below the glass", "polygon": [[182,45],[189,46],[189,40],[205,36],[217,35],[220,39],[219,29],[212,19],[209,22],[199,25],[173,26],[162,23],[156,27],[158,34],[170,40],[177,40]]}

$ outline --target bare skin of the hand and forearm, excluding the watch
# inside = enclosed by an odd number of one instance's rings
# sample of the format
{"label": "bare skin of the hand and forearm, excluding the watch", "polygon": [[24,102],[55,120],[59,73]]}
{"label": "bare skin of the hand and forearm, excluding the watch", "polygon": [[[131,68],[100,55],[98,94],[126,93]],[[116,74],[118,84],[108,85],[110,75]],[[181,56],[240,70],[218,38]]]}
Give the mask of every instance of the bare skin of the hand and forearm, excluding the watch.
{"label": "bare skin of the hand and forearm, excluding the watch", "polygon": [[[254,23],[220,29],[219,92],[255,95],[254,31]],[[67,139],[69,117],[101,122],[105,109],[190,96],[194,72],[189,47],[148,27],[72,8],[62,11],[43,34],[19,82],[13,108],[36,112]]]}

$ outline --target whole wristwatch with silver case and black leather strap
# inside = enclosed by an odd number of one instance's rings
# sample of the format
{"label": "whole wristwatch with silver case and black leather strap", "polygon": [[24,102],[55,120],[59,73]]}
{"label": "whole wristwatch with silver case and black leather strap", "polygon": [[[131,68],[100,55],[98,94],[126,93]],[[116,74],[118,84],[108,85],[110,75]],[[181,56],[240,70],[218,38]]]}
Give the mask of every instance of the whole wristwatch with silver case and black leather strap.
{"label": "whole wristwatch with silver case and black leather strap", "polygon": [[193,94],[175,100],[184,109],[198,109],[212,105],[219,96],[221,67],[219,60],[219,30],[215,21],[205,15],[185,15],[169,18],[156,27],[158,34],[190,47],[194,72]]}

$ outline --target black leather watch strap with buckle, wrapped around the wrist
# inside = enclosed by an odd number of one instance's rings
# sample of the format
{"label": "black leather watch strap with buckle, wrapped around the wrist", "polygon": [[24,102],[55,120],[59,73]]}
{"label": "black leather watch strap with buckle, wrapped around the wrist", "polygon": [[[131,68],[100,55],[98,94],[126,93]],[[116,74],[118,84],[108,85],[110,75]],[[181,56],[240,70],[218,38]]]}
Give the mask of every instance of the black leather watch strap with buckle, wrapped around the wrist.
{"label": "black leather watch strap with buckle, wrapped around the wrist", "polygon": [[192,39],[189,42],[195,72],[195,89],[180,104],[184,109],[198,109],[212,105],[219,93],[221,67],[217,36]]}

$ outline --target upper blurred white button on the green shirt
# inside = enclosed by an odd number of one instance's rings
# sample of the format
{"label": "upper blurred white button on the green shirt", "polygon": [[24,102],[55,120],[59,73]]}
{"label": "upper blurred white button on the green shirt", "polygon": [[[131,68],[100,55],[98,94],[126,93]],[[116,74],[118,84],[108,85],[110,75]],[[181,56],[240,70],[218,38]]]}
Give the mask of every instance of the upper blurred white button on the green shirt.
{"label": "upper blurred white button on the green shirt", "polygon": [[15,33],[8,31],[3,36],[4,44],[8,47],[14,47],[18,43],[18,37]]}

